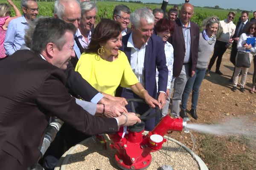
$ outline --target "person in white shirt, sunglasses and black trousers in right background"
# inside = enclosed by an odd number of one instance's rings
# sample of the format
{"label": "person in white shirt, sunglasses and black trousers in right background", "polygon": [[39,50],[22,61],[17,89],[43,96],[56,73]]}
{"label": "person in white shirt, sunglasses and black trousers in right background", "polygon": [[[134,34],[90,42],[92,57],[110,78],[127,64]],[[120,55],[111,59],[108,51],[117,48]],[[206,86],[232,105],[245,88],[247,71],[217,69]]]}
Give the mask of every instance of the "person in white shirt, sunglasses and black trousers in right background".
{"label": "person in white shirt, sunglasses and black trousers in right background", "polygon": [[233,40],[231,37],[235,34],[236,31],[236,25],[233,23],[233,19],[235,17],[235,12],[230,11],[227,14],[227,19],[220,21],[220,27],[222,28],[223,32],[222,34],[217,37],[215,46],[214,46],[214,52],[212,55],[212,58],[209,62],[208,69],[205,74],[209,74],[212,65],[214,64],[216,58],[216,70],[215,73],[222,75],[220,71],[220,66],[221,66],[221,59],[227,48],[232,44]]}

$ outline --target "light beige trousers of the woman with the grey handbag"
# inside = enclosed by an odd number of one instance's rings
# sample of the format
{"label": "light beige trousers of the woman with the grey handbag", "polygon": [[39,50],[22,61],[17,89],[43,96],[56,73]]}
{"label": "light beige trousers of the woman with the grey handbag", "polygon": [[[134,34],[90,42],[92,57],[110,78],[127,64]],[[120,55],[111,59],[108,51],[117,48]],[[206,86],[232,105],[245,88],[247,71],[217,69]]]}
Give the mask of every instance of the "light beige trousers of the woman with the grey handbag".
{"label": "light beige trousers of the woman with the grey handbag", "polygon": [[[249,57],[250,57],[250,63],[251,63],[253,60],[253,54],[249,53]],[[237,54],[236,54],[236,59],[237,59]],[[244,68],[244,67],[236,67],[235,68],[235,73],[233,76],[233,86],[235,86],[235,87],[237,86],[239,74],[240,74],[240,71],[242,71],[240,87],[244,88],[248,70],[249,70],[249,68]]]}

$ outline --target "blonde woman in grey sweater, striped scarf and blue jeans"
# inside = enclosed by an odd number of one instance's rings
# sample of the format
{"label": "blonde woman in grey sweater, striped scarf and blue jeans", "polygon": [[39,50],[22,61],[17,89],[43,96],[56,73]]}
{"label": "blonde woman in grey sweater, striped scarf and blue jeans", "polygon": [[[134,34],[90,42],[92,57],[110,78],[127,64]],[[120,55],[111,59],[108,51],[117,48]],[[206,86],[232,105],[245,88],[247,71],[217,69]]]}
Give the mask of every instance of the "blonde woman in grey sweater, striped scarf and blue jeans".
{"label": "blonde woman in grey sweater, striped scarf and blue jeans", "polygon": [[202,22],[202,32],[199,37],[198,62],[195,68],[195,75],[189,77],[182,95],[181,110],[186,111],[189,94],[192,91],[192,107],[189,111],[194,119],[198,119],[196,108],[198,104],[199,89],[204,79],[209,57],[212,54],[216,37],[220,34],[218,17],[208,17]]}

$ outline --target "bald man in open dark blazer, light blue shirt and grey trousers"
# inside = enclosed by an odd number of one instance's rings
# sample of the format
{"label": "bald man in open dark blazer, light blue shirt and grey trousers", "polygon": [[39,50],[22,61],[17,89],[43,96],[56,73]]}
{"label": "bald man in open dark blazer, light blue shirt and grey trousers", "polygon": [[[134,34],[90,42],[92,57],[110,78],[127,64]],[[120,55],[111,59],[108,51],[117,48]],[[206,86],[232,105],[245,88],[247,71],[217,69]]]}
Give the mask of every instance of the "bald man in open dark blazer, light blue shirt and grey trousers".
{"label": "bald man in open dark blazer, light blue shirt and grey trousers", "polygon": [[[171,37],[174,48],[172,114],[181,116],[184,120],[189,118],[185,110],[180,111],[180,102],[188,78],[195,74],[198,58],[199,27],[190,21],[193,14],[194,7],[190,3],[183,4],[180,18],[175,20],[175,31]],[[191,114],[196,116],[196,113]]]}

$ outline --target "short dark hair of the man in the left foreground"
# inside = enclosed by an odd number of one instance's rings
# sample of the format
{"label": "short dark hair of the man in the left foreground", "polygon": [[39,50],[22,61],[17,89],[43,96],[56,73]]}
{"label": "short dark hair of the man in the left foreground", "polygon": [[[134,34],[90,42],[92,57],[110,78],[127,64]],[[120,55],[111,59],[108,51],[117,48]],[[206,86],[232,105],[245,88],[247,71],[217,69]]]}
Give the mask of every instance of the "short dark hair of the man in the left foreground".
{"label": "short dark hair of the man in the left foreground", "polygon": [[65,23],[58,18],[42,18],[37,22],[31,41],[31,51],[40,54],[49,42],[54,43],[59,50],[66,43],[64,34],[67,31],[76,33],[76,28],[71,23]]}

